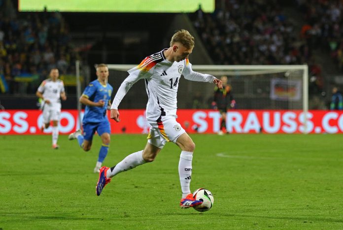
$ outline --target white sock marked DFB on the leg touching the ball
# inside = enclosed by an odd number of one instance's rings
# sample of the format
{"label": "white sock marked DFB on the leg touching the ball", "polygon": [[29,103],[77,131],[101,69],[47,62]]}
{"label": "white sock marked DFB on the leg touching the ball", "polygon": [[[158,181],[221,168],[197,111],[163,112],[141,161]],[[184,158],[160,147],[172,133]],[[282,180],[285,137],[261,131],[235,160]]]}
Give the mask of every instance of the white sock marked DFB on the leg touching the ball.
{"label": "white sock marked DFB on the leg touching the ball", "polygon": [[181,183],[182,198],[185,198],[188,194],[191,193],[189,185],[191,183],[192,175],[192,159],[193,153],[182,151],[180,154],[179,161],[179,176]]}

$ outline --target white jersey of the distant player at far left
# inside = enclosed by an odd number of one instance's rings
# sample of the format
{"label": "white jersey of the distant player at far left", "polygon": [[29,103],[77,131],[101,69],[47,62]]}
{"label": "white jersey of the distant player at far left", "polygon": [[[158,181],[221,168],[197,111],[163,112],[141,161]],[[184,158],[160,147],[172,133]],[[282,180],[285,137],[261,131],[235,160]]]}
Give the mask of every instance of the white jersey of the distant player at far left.
{"label": "white jersey of the distant player at far left", "polygon": [[51,79],[44,80],[37,91],[43,94],[45,100],[50,101],[50,104],[43,102],[44,108],[61,109],[61,93],[65,92],[63,81],[59,79],[55,82]]}

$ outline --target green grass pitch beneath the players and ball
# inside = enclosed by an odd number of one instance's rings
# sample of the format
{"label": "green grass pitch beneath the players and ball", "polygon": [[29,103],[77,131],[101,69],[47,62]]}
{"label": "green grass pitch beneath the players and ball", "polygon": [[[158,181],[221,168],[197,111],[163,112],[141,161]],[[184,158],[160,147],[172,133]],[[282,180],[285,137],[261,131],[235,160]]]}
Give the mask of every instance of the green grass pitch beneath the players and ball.
{"label": "green grass pitch beneath the players and ball", "polygon": [[[146,135],[112,135],[104,164],[141,150]],[[208,212],[179,207],[180,150],[118,174],[100,197],[100,138],[83,152],[60,135],[0,136],[0,229],[343,229],[343,135],[191,135],[191,190]]]}

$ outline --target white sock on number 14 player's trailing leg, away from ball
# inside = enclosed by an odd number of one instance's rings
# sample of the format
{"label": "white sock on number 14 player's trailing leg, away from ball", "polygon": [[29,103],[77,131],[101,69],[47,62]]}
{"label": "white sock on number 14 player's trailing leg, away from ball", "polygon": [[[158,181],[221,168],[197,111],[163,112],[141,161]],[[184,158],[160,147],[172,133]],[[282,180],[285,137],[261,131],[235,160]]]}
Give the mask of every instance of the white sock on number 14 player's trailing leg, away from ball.
{"label": "white sock on number 14 player's trailing leg, away from ball", "polygon": [[132,153],[117,165],[109,168],[106,172],[107,178],[111,178],[122,171],[128,171],[144,163],[146,162],[143,159],[143,150]]}

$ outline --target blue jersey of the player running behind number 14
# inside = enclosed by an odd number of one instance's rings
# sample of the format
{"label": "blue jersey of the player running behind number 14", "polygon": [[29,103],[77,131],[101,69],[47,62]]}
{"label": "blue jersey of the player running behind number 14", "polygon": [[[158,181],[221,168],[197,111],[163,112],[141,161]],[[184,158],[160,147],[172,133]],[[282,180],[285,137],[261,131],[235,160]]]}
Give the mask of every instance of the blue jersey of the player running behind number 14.
{"label": "blue jersey of the player running behind number 14", "polygon": [[85,114],[83,116],[83,123],[94,122],[99,123],[108,121],[106,116],[108,101],[111,99],[113,87],[110,84],[102,85],[98,80],[92,81],[83,91],[82,97],[98,102],[103,100],[105,103],[103,107],[86,105]]}

